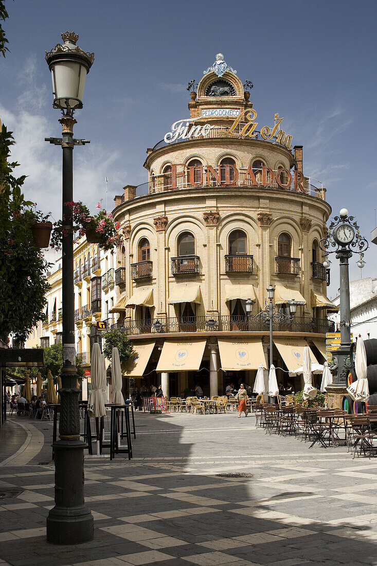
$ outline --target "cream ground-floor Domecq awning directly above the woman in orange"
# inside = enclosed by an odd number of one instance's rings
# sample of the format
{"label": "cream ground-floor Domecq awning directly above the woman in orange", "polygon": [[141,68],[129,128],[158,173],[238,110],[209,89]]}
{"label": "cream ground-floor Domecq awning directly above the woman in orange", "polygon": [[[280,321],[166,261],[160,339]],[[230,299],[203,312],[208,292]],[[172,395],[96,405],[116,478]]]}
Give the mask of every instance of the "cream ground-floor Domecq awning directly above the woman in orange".
{"label": "cream ground-floor Domecq awning directly above the woman in orange", "polygon": [[221,369],[232,370],[258,370],[259,364],[267,368],[265,355],[260,338],[248,340],[217,340],[219,344]]}

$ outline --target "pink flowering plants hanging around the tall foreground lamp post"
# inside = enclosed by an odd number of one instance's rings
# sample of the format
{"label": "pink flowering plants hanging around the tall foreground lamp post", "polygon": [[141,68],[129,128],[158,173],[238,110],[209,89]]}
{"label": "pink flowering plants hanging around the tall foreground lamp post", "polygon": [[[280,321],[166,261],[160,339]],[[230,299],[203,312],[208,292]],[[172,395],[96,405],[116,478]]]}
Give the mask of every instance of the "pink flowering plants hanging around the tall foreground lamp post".
{"label": "pink flowering plants hanging around the tall foreground lamp post", "polygon": [[[71,211],[74,232],[78,232],[80,237],[87,234],[87,231],[91,234],[95,233],[96,242],[104,250],[112,250],[115,246],[122,245],[122,235],[119,234],[121,225],[119,222],[113,221],[112,213],[106,213],[105,209],[101,208],[100,203],[96,205],[100,209],[96,215],[91,215],[88,207],[81,201],[75,203],[72,200],[65,205]],[[68,234],[67,230],[63,228],[65,220],[66,218],[63,217],[63,221],[59,220],[54,224],[50,246],[57,250],[62,247],[62,238]]]}

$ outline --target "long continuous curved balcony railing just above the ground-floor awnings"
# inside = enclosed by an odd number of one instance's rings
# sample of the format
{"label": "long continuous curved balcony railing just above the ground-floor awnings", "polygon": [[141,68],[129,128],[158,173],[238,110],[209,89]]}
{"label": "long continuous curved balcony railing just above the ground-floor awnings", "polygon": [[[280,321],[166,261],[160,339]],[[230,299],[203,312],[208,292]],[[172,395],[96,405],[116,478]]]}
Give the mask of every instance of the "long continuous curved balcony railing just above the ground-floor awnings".
{"label": "long continuous curved balcony railing just above the ground-floor awnings", "polygon": [[[247,320],[245,316],[183,316],[168,319],[142,319],[114,324],[111,327],[125,332],[127,336],[143,334],[166,334],[179,332],[265,332],[267,325],[263,320]],[[335,331],[335,323],[328,319],[313,319],[311,316],[294,316],[285,323],[273,323],[274,331],[319,333]]]}

